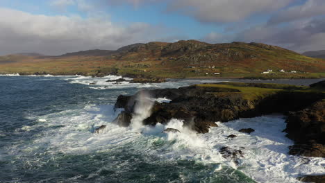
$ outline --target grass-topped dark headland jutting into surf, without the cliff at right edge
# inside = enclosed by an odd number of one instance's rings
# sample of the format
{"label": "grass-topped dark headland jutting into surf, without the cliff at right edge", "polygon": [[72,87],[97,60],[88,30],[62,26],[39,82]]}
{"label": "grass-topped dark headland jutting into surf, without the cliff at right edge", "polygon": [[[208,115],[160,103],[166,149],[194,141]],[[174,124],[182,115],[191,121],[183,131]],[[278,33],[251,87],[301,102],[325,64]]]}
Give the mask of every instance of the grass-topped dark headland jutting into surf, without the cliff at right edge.
{"label": "grass-topped dark headland jutting into surf, without the cliff at right edge", "polygon": [[[226,84],[229,87],[224,87]],[[240,90],[242,87],[256,87],[258,92],[243,93]],[[269,92],[270,87],[274,89],[272,92],[263,93]],[[265,88],[267,90],[263,90]],[[310,103],[318,101],[319,98],[324,98],[323,93],[292,91],[296,88],[287,85],[243,85],[226,82],[217,85],[192,85],[178,89],[153,89],[147,91],[151,98],[165,97],[172,101],[153,103],[151,115],[144,119],[143,124],[165,124],[170,119],[180,119],[183,120],[184,126],[199,133],[206,133],[210,127],[217,126],[216,121],[227,122],[240,117],[254,117],[273,112],[287,113],[290,110],[301,110]],[[125,112],[131,115],[140,94],[141,92],[134,96],[119,96],[115,108],[124,108]]]}

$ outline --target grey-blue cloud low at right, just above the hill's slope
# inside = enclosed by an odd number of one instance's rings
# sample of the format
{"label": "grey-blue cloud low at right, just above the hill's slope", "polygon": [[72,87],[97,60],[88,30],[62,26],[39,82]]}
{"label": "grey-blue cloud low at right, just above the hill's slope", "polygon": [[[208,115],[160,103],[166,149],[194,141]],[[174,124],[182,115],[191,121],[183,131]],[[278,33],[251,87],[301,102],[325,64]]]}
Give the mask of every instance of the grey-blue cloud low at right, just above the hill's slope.
{"label": "grey-blue cloud low at right, just above the hill's slope", "polygon": [[263,42],[303,52],[325,48],[325,19],[294,21],[286,26],[254,26],[232,40]]}

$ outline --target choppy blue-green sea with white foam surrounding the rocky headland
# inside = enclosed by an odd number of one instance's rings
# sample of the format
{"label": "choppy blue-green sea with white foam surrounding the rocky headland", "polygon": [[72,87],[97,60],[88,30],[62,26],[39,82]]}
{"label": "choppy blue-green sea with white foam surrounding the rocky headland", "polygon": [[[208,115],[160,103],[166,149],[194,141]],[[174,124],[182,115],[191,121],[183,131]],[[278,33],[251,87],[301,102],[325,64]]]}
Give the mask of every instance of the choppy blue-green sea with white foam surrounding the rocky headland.
{"label": "choppy blue-green sea with white foam surrounding the rocky headland", "polygon": [[[288,155],[293,143],[282,132],[283,116],[218,123],[208,134],[176,119],[119,128],[112,123],[119,94],[216,80],[106,82],[116,78],[0,76],[0,182],[297,182],[325,173],[325,159]],[[107,128],[93,134],[100,125]],[[161,133],[165,128],[182,133]],[[223,146],[242,149],[239,164],[220,155]]]}

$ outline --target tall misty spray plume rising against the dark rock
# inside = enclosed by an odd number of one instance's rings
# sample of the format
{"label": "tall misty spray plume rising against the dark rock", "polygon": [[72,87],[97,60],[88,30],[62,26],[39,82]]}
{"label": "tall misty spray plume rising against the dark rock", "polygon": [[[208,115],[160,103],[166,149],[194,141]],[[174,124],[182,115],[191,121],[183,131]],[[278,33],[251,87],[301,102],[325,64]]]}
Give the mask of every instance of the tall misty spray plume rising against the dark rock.
{"label": "tall misty spray plume rising against the dark rock", "polygon": [[153,101],[151,100],[151,95],[146,90],[140,91],[135,101],[131,126],[135,129],[139,129],[142,127],[142,121],[151,115]]}

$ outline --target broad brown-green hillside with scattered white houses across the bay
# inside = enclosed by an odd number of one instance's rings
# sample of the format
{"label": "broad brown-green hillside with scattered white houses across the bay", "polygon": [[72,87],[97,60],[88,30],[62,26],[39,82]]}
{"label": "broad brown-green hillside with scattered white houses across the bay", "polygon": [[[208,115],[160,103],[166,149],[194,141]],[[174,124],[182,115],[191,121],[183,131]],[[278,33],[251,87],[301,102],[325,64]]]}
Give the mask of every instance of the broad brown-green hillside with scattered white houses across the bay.
{"label": "broad brown-green hillside with scattered white houses across the bay", "polygon": [[124,46],[116,51],[90,50],[56,57],[10,58],[11,62],[1,62],[8,61],[6,57],[0,57],[1,73],[78,73],[87,76],[115,73],[166,78],[325,77],[325,60],[261,43],[149,42]]}

